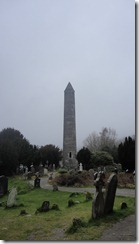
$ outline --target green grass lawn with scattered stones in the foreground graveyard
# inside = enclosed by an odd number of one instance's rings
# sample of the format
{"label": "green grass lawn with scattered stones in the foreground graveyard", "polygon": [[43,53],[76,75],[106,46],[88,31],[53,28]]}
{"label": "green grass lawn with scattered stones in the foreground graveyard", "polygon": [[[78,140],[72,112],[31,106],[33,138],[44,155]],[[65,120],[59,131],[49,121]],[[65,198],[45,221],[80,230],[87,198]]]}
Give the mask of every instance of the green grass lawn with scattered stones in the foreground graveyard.
{"label": "green grass lawn with scattered stones in the foreground graveyard", "polygon": [[[71,193],[68,192],[31,189],[27,181],[19,177],[9,178],[9,189],[12,187],[17,187],[18,206],[5,209],[7,196],[0,198],[1,240],[97,240],[114,222],[135,212],[134,198],[116,197],[113,214],[91,220],[92,201],[86,201],[83,193],[69,197]],[[68,207],[69,199],[79,203]],[[50,207],[58,204],[60,210],[35,214],[43,201],[49,201]],[[126,202],[128,208],[121,210],[122,202]],[[27,214],[20,215],[21,210]],[[72,224],[74,218],[80,219],[78,225]]]}

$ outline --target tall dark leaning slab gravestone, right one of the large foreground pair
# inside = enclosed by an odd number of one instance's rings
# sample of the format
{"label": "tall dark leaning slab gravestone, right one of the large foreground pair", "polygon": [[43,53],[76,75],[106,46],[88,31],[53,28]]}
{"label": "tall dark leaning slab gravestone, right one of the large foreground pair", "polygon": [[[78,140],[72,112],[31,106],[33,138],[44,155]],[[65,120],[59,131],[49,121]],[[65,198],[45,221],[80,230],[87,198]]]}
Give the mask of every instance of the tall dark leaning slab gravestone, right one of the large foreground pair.
{"label": "tall dark leaning slab gravestone, right one of the large foreground pair", "polygon": [[117,174],[113,173],[112,175],[110,175],[106,185],[105,204],[104,204],[105,214],[109,214],[113,212],[117,183],[118,183]]}

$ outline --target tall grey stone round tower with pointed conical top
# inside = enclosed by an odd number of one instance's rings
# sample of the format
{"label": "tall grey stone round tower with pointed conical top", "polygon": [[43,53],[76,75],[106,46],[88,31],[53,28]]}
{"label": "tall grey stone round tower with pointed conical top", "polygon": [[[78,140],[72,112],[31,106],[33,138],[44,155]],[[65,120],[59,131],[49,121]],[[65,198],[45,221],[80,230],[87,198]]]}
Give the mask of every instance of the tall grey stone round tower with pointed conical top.
{"label": "tall grey stone round tower with pointed conical top", "polygon": [[75,92],[70,82],[64,91],[63,165],[68,169],[77,167]]}

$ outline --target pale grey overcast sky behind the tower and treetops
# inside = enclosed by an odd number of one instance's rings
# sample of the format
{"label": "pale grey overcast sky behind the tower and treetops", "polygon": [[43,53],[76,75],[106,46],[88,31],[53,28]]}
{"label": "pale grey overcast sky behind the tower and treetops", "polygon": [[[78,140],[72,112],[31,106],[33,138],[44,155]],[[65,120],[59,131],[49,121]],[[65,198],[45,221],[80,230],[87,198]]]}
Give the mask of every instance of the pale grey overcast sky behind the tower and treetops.
{"label": "pale grey overcast sky behind the tower and treetops", "polygon": [[63,146],[75,90],[77,146],[102,127],[135,134],[133,0],[1,0],[0,131]]}

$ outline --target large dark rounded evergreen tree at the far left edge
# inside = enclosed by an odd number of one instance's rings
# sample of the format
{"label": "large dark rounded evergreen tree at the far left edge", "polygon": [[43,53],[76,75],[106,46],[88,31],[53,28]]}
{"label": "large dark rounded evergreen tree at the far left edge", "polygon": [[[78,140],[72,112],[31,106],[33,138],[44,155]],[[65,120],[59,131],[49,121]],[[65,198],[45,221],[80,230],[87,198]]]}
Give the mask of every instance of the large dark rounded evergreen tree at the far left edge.
{"label": "large dark rounded evergreen tree at the far left edge", "polygon": [[29,142],[13,128],[0,132],[0,171],[12,175],[20,163],[26,162],[29,156]]}

